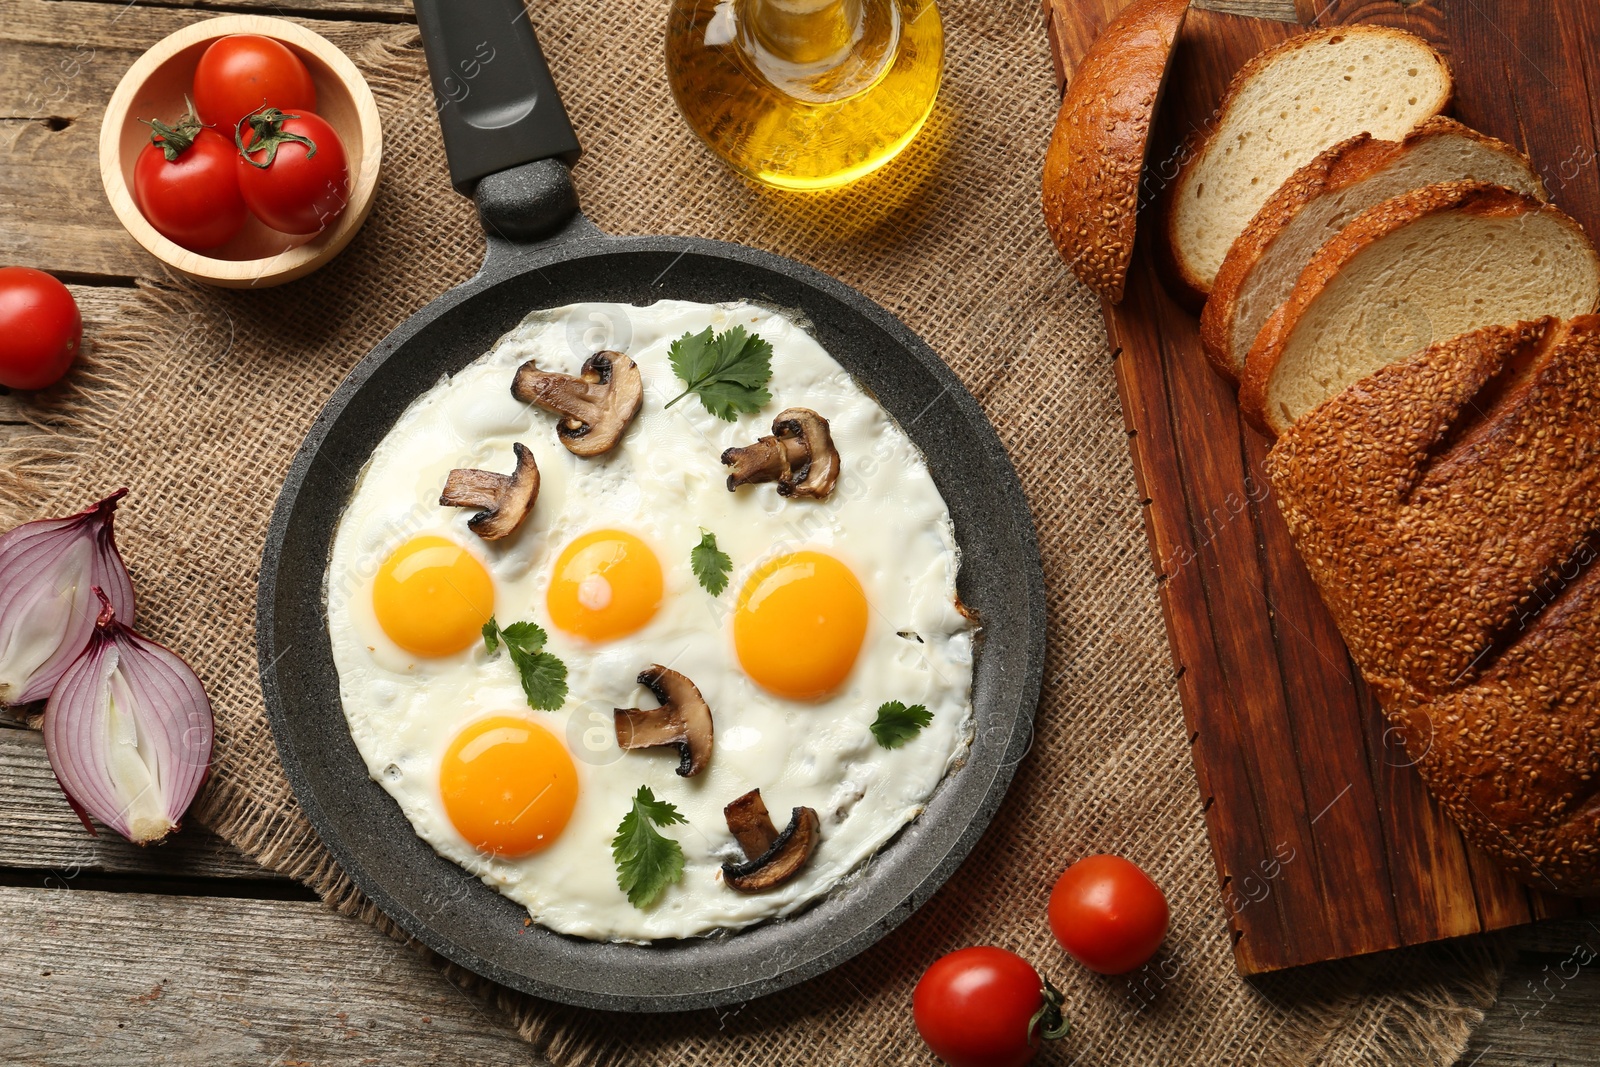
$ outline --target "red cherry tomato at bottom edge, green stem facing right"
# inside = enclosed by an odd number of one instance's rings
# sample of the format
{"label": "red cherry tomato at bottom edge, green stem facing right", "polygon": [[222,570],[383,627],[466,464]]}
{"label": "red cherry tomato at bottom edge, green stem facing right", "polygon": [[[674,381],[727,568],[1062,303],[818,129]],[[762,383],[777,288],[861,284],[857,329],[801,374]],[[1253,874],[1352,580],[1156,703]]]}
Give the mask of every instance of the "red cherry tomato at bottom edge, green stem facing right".
{"label": "red cherry tomato at bottom edge, green stem facing right", "polygon": [[950,1067],[1022,1067],[1042,1038],[1066,1037],[1061,993],[1014,952],[958,949],[912,993],[917,1032]]}

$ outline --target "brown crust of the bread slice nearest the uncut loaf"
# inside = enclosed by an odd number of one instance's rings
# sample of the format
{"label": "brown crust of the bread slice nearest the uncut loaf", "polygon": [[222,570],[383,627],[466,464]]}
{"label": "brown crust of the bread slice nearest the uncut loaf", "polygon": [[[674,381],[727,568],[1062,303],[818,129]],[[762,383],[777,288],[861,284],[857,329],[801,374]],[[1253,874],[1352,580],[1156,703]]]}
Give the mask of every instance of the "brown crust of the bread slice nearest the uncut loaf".
{"label": "brown crust of the bread slice nearest the uncut loaf", "polygon": [[[1245,374],[1238,384],[1238,406],[1251,426],[1269,435],[1288,429],[1280,418],[1274,418],[1267,411],[1267,387],[1294,328],[1339,272],[1374,242],[1418,219],[1443,211],[1470,211],[1483,216],[1544,211],[1582,234],[1582,227],[1554,205],[1488,182],[1440,182],[1368,208],[1312,256],[1294,283],[1290,299],[1272,314],[1261,333],[1256,334],[1254,344],[1250,346],[1250,354],[1245,357]],[[1584,240],[1587,243],[1587,238]],[[1590,254],[1594,254],[1594,248],[1590,248]]]}

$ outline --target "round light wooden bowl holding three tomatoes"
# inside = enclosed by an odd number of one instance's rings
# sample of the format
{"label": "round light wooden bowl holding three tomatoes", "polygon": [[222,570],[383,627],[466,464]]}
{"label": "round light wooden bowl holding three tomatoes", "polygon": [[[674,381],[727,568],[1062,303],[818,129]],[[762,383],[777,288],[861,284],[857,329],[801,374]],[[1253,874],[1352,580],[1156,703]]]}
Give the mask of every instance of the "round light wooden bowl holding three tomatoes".
{"label": "round light wooden bowl holding three tomatoes", "polygon": [[[317,85],[317,114],[344,142],[350,168],[350,200],[333,226],[318,234],[280,234],[250,216],[234,240],[195,253],[162,237],[133,202],[133,165],[150,142],[141,118],[173,122],[184,114],[200,54],[230,34],[259,34],[288,45]],[[224,131],[232,136],[232,131]],[[258,14],[229,14],[186,26],[162,38],[122,75],[101,125],[99,163],[112,211],[128,234],[173,270],[227,288],[282,285],[339,254],[366,221],[378,189],[382,130],[366,78],[349,58],[296,22]]]}

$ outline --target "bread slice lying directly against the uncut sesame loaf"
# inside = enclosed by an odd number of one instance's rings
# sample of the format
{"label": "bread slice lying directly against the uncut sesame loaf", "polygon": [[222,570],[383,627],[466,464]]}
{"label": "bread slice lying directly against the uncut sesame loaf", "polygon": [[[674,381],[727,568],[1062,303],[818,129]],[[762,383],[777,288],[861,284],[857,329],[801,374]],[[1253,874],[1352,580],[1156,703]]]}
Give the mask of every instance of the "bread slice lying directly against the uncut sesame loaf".
{"label": "bread slice lying directly against the uncut sesame loaf", "polygon": [[1317,251],[1245,357],[1238,406],[1282,434],[1434,341],[1597,306],[1600,258],[1578,222],[1499,186],[1429,186],[1368,208]]}

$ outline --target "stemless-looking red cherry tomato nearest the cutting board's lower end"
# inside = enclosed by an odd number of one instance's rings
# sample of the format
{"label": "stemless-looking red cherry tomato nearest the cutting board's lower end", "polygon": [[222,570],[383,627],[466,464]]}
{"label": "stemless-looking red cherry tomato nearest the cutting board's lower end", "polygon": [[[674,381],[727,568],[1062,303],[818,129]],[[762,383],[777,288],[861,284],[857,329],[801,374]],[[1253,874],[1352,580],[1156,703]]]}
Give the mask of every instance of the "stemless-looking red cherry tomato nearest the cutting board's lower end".
{"label": "stemless-looking red cherry tomato nearest the cutting board's lower end", "polygon": [[1086,856],[1050,893],[1050,929],[1072,958],[1101,974],[1142,966],[1166,937],[1166,896],[1122,856]]}

